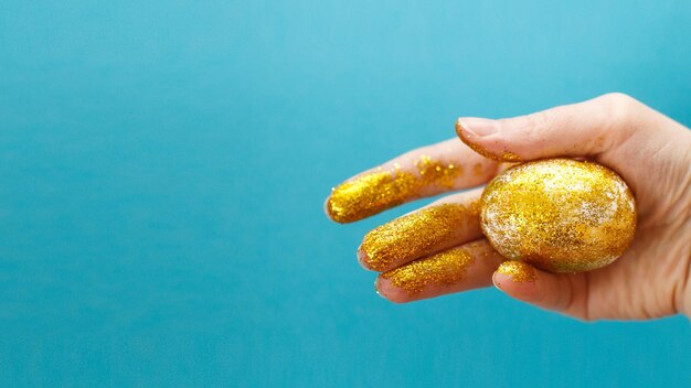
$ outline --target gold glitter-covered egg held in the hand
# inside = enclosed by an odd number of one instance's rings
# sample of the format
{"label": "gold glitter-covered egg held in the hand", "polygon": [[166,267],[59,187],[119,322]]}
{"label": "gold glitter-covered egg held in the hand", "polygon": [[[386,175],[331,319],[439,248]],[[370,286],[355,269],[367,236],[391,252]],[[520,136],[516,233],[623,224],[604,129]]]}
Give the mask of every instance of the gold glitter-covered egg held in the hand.
{"label": "gold glitter-covered egg held in the hand", "polygon": [[626,182],[593,162],[549,159],[495,177],[480,204],[482,231],[502,256],[550,272],[581,272],[616,260],[636,231]]}

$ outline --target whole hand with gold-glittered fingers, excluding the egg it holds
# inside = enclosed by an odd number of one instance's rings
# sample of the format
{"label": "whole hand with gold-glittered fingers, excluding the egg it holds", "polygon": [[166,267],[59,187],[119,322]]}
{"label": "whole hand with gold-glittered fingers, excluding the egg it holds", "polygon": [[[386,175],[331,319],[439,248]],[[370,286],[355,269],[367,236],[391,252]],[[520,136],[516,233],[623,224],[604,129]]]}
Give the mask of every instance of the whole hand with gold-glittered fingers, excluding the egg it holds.
{"label": "whole hand with gold-glittered fingers, excluding the egg it holds", "polygon": [[[584,321],[691,316],[691,131],[621,94],[533,115],[460,118],[457,139],[422,148],[336,187],[327,213],[352,222],[491,180],[502,162],[586,158],[636,195],[634,242],[614,263],[554,274],[506,261],[482,237],[481,187],[451,194],[370,231],[358,256],[379,292],[408,302],[496,284],[521,301]],[[471,149],[482,153],[480,157]],[[493,159],[493,160],[492,160]],[[506,262],[504,262],[506,261]]]}

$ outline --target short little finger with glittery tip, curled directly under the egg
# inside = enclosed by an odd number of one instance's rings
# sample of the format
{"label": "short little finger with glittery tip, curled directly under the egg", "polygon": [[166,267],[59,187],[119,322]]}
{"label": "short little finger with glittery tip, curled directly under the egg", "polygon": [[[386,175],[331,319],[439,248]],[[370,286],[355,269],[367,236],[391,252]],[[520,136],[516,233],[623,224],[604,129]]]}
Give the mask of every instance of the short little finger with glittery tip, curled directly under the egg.
{"label": "short little finger with glittery tip, curled directly under the egg", "polygon": [[511,298],[545,310],[587,319],[584,273],[554,274],[522,261],[504,261],[495,272],[492,282]]}

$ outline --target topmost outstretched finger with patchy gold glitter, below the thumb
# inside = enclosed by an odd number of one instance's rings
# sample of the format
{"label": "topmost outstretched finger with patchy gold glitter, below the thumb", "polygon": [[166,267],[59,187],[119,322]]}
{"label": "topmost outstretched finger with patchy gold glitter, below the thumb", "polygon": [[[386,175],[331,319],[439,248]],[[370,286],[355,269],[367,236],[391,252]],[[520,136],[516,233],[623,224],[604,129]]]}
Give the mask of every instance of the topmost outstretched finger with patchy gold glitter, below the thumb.
{"label": "topmost outstretched finger with patchy gold glitter, below the thumb", "polygon": [[334,187],[326,202],[329,217],[359,220],[403,203],[489,181],[497,163],[457,139],[421,148]]}

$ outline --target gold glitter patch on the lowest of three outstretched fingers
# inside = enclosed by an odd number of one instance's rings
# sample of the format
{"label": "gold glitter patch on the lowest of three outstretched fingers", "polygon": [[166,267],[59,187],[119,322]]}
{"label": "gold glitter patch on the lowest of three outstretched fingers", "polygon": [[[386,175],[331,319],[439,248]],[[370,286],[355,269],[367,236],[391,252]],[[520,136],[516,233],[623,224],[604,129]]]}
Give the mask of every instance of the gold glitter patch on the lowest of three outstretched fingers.
{"label": "gold glitter patch on the lowest of three outstretched fingers", "polygon": [[467,248],[456,247],[384,272],[381,277],[406,290],[408,295],[414,295],[427,285],[449,287],[458,283],[474,261]]}

